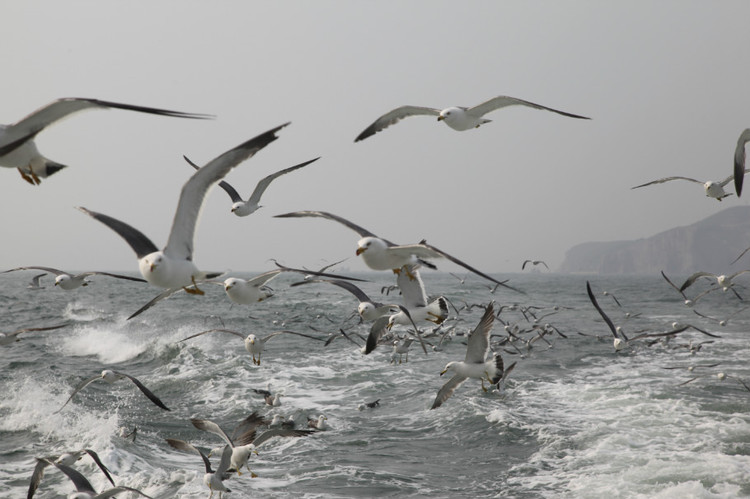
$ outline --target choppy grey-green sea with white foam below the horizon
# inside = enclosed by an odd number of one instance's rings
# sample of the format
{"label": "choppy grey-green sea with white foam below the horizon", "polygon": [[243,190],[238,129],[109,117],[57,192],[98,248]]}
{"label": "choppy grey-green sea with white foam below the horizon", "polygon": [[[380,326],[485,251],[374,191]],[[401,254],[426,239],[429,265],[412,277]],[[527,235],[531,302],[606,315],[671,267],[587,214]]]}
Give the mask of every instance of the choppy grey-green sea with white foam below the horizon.
{"label": "choppy grey-green sea with white foam below the horizon", "polygon": [[[258,476],[228,480],[232,492],[224,497],[230,499],[750,496],[750,391],[741,383],[750,385],[750,310],[742,310],[732,293],[710,293],[695,306],[711,317],[731,316],[721,326],[696,315],[661,276],[588,277],[602,307],[631,337],[669,330],[673,321],[721,336],[685,332],[651,346],[634,341],[616,353],[586,295],[587,277],[499,276],[510,278],[523,295],[492,293],[473,276],[460,282],[424,271],[428,293],[443,294],[455,306],[441,329],[451,333],[439,346],[438,338],[430,338],[436,348],[427,354],[413,343],[408,361],[392,363],[389,346],[364,356],[339,334],[344,328],[361,344],[357,334],[369,330],[350,319],[353,296],[327,284],[289,287],[298,280],[291,275],[273,281],[275,296],[256,305],[232,306],[216,286],[201,297],[174,295],[130,321],[128,315],[158,290],[95,276],[89,286],[69,292],[51,286],[48,277],[45,289],[32,291],[26,289],[32,275],[1,276],[0,330],[68,326],[24,334],[0,347],[3,497],[26,496],[36,457],[81,448],[95,450],[118,485],[155,498],[208,497],[200,457],[172,449],[165,438],[208,452],[222,441],[195,429],[189,418],[210,419],[231,432],[252,411],[292,416],[299,425],[324,414],[329,428],[262,444],[250,460]],[[361,287],[373,298],[396,299],[397,291],[381,294],[393,283],[391,274],[356,275],[370,280]],[[739,293],[750,294],[744,288]],[[493,346],[506,367],[515,362],[515,368],[498,389],[484,392],[469,380],[442,407],[429,410],[446,381],[440,371],[451,360],[463,360],[465,334],[483,312],[468,306],[490,301],[503,307]],[[530,312],[537,325],[559,333],[538,338]],[[503,323],[518,326],[518,340],[503,342]],[[325,346],[276,336],[260,366],[233,335],[180,342],[215,327],[259,336],[288,329],[337,337]],[[712,364],[718,365],[706,367]],[[136,376],[171,411],[121,380],[94,382],[55,413],[76,384],[105,368]],[[728,377],[721,381],[719,372]],[[265,405],[252,391],[268,386],[283,393],[280,406]],[[378,407],[358,410],[376,399]],[[120,437],[120,427],[137,427],[135,442]],[[212,462],[216,466],[218,458]],[[97,490],[107,488],[89,458],[76,469]],[[70,480],[48,468],[35,497],[64,497],[73,490]]]}

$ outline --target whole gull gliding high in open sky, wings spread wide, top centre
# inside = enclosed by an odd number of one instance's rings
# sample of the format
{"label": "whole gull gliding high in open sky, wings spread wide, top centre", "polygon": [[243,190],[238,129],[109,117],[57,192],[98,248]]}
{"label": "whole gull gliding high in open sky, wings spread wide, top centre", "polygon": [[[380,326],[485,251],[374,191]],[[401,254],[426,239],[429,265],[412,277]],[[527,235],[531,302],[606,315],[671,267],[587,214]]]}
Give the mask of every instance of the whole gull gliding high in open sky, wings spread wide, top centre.
{"label": "whole gull gliding high in open sky, wings spread wide, top centre", "polygon": [[566,113],[565,111],[558,111],[551,107],[534,104],[533,102],[517,99],[515,97],[499,95],[474,107],[448,107],[443,110],[420,106],[397,107],[396,109],[385,113],[383,116],[375,120],[372,125],[365,128],[365,130],[354,139],[354,142],[359,142],[371,135],[375,135],[384,128],[398,123],[409,116],[437,116],[438,121],[443,121],[452,129],[460,132],[471,128],[479,128],[480,125],[492,121],[484,118],[485,114],[508,106],[526,106],[534,109],[552,111],[553,113],[561,114],[569,118],[578,118],[582,120],[591,119],[577,114]]}

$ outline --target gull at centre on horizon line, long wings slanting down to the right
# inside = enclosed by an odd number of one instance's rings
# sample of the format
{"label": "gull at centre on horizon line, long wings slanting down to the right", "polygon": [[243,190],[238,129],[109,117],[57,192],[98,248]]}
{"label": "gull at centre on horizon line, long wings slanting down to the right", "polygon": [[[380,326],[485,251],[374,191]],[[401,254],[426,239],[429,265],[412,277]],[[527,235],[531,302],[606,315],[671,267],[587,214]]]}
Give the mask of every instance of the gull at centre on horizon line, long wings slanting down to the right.
{"label": "gull at centre on horizon line, long wings slanting down to the right", "polygon": [[496,284],[502,285],[508,289],[521,292],[507,284],[500,282],[492,277],[484,274],[461,260],[437,249],[434,246],[427,244],[422,241],[418,244],[408,245],[396,245],[386,239],[382,239],[367,229],[360,227],[344,218],[328,213],[325,211],[295,211],[291,213],[284,213],[283,215],[275,215],[276,218],[303,218],[303,217],[320,217],[327,218],[339,222],[342,225],[350,228],[359,234],[361,239],[357,243],[356,254],[362,257],[365,264],[373,270],[392,270],[398,274],[404,265],[417,265],[423,264],[427,267],[435,269],[435,265],[428,262],[428,259],[432,258],[446,258],[453,263],[460,265],[461,267],[470,270],[471,272],[484,277]]}

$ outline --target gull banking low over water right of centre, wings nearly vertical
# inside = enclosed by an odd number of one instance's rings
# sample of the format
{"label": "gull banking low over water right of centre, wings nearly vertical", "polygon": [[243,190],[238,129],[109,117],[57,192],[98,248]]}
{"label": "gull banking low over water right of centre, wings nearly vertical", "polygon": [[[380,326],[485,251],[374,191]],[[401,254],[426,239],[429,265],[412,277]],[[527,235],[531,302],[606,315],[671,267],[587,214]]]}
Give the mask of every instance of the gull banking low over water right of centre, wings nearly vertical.
{"label": "gull banking low over water right of centre, wings nearly vertical", "polygon": [[[486,379],[490,385],[498,383],[503,378],[503,358],[499,353],[495,353],[489,359],[486,359],[490,352],[490,331],[495,320],[495,309],[490,303],[479,320],[477,327],[469,335],[468,345],[466,347],[466,358],[462,361],[449,362],[445,369],[440,373],[452,371],[455,373],[451,379],[438,391],[435,402],[430,409],[437,409],[443,402],[448,400],[453,392],[456,391],[464,381],[469,378],[476,378],[482,382]],[[486,360],[485,360],[486,359]]]}

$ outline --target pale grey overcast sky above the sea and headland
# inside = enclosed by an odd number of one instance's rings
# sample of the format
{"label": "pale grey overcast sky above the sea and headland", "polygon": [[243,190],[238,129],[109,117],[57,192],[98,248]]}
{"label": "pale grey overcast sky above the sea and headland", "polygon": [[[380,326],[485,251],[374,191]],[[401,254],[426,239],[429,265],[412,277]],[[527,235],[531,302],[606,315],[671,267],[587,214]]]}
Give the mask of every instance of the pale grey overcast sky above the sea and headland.
{"label": "pale grey overcast sky above the sea and headland", "polygon": [[[397,243],[430,243],[488,272],[527,258],[553,269],[573,245],[648,237],[721,209],[682,175],[723,179],[750,127],[750,2],[98,2],[3,4],[0,122],[59,97],[215,120],[89,111],[37,143],[69,165],[34,187],[0,169],[0,266],[137,271],[84,206],[167,240],[180,188],[269,128],[280,138],[226,178],[264,208],[238,218],[209,193],[196,234],[204,270],[315,267],[358,236],[326,210]],[[510,95],[592,118],[512,107],[456,132],[411,117],[354,143],[397,106],[471,106]],[[748,235],[750,241],[750,234]],[[452,264],[444,270],[458,271]]]}

